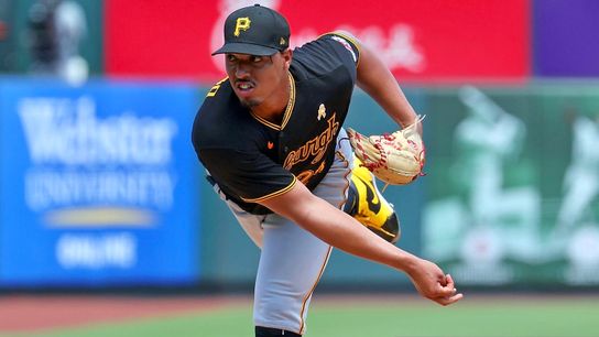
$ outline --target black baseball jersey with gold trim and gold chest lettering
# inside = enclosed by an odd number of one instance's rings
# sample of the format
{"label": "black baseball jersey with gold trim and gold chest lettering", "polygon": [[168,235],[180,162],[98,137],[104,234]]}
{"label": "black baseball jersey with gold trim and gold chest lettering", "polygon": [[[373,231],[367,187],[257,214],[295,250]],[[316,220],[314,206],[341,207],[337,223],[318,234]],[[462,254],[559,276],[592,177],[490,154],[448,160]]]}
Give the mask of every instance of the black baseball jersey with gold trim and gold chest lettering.
{"label": "black baseball jersey with gold trim and gold chest lettering", "polygon": [[199,108],[192,140],[198,159],[225,195],[252,214],[257,204],[290,191],[297,181],[314,189],[335,159],[359,62],[357,44],[326,34],[295,48],[290,101],[281,124],[241,106],[228,79]]}

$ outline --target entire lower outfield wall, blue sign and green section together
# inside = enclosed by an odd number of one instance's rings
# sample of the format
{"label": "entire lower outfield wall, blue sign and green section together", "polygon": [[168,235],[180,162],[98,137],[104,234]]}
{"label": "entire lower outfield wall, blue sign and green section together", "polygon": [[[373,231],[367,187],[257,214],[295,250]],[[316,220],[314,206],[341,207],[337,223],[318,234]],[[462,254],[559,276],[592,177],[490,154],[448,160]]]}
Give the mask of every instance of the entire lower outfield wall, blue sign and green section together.
{"label": "entire lower outfield wall, blue sign and green section together", "polygon": [[[0,83],[0,285],[251,284],[259,250],[204,180],[186,83]],[[599,85],[406,87],[426,176],[399,244],[461,284],[599,284]],[[362,91],[347,127],[394,124]],[[324,284],[407,284],[334,253]]]}

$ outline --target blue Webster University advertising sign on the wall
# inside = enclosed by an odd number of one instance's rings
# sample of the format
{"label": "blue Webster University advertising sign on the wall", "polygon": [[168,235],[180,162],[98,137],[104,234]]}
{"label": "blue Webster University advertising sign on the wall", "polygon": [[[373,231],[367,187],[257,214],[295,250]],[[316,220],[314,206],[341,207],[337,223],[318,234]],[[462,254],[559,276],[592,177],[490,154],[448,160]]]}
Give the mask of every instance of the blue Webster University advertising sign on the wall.
{"label": "blue Webster University advertising sign on the wall", "polygon": [[0,285],[196,280],[196,95],[0,83]]}

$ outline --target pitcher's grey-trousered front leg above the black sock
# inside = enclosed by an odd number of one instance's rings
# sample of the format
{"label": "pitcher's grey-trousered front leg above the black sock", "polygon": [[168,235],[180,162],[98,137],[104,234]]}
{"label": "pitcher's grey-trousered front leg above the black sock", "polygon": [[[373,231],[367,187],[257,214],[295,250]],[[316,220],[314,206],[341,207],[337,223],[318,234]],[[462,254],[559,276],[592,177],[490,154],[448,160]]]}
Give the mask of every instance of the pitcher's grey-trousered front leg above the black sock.
{"label": "pitcher's grey-trousered front leg above the black sock", "polygon": [[263,228],[254,290],[254,324],[302,335],[312,293],[331,248],[277,215],[269,216]]}

